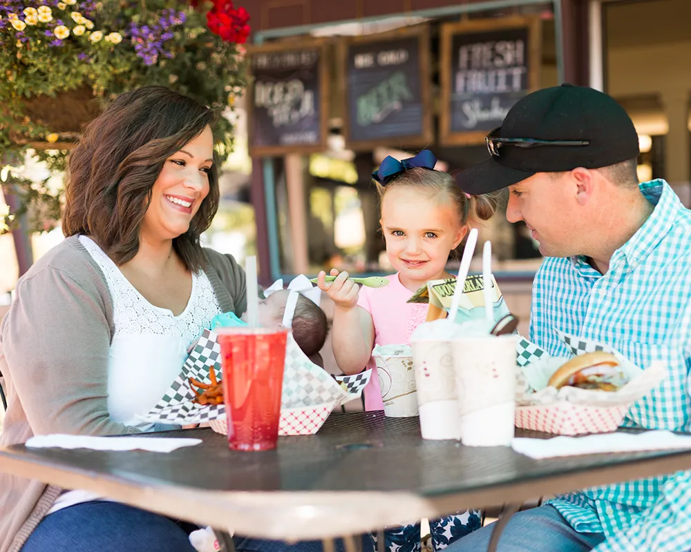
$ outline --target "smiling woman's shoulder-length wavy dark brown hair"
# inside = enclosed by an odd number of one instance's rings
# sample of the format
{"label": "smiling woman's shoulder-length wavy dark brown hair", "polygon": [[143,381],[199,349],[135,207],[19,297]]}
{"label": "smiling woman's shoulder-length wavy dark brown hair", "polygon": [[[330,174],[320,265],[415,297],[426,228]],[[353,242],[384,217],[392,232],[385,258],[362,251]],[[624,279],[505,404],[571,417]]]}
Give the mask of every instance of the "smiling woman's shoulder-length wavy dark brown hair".
{"label": "smiling woman's shoulder-length wavy dark brown hair", "polygon": [[[163,86],[126,92],[86,126],[70,153],[62,230],[92,237],[115,264],[139,250],[140,226],[151,189],[168,157],[196,138],[216,117],[209,108]],[[189,270],[202,266],[199,236],[218,209],[218,171],[209,171],[209,194],[173,247]]]}

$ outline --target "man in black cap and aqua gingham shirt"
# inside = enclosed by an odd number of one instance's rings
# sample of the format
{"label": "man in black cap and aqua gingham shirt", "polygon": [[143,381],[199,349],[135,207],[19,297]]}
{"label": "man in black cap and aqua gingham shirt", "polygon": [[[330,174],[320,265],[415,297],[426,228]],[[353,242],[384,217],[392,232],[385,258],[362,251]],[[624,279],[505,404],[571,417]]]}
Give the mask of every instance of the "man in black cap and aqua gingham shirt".
{"label": "man in black cap and aqua gingham shirt", "polygon": [[[638,136],[611,97],[578,86],[527,95],[486,137],[491,158],[457,177],[471,194],[509,188],[545,261],[531,341],[571,353],[557,330],[607,344],[667,377],[623,426],[691,430],[691,211],[663,180],[638,183]],[[492,526],[448,552],[486,550]],[[691,472],[585,489],[516,514],[501,552],[691,550]]]}

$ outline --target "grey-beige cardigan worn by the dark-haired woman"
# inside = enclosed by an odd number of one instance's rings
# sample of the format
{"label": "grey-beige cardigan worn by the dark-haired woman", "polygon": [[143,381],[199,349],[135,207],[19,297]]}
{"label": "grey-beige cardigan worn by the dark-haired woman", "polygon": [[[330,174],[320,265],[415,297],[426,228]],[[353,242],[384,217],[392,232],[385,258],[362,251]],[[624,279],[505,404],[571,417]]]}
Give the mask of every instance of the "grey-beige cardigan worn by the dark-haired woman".
{"label": "grey-beige cardigan worn by the dark-haired woman", "polygon": [[[247,308],[245,273],[231,255],[205,249],[205,273],[223,312]],[[111,420],[108,348],[113,304],[105,277],[77,236],[39,259],[17,282],[0,326],[0,373],[8,410],[0,447],[32,435],[118,435]],[[59,487],[0,472],[0,552],[18,552],[61,493]]]}

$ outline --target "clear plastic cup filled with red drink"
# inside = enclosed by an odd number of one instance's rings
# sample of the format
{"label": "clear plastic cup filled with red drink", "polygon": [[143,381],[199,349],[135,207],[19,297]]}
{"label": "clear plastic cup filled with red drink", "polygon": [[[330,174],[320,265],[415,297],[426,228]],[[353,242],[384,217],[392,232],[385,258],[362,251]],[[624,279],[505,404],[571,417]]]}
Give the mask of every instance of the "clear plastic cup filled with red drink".
{"label": "clear plastic cup filled with red drink", "polygon": [[278,442],[287,329],[218,328],[228,446],[267,451]]}

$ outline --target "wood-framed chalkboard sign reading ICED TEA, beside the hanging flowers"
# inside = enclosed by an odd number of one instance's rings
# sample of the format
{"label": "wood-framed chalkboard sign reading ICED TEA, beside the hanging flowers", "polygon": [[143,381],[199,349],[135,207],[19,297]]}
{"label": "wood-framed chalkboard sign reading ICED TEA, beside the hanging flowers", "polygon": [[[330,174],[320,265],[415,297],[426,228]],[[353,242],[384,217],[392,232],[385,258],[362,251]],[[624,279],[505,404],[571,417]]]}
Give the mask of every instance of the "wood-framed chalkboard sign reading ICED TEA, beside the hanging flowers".
{"label": "wood-framed chalkboard sign reading ICED TEA, beside the hanging flowers", "polygon": [[329,79],[324,42],[256,46],[248,54],[249,155],[325,150]]}

